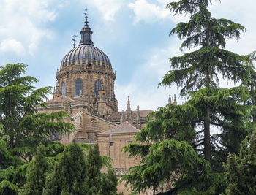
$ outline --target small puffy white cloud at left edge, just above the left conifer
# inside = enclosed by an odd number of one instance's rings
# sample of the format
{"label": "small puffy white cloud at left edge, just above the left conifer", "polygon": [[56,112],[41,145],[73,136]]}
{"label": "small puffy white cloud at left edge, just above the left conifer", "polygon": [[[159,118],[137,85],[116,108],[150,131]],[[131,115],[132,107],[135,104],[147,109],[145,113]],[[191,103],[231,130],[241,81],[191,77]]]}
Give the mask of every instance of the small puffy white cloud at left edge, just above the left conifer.
{"label": "small puffy white cloud at left edge, just above the left conifer", "polygon": [[14,52],[17,56],[21,56],[25,53],[25,48],[15,39],[4,39],[0,43],[0,52]]}

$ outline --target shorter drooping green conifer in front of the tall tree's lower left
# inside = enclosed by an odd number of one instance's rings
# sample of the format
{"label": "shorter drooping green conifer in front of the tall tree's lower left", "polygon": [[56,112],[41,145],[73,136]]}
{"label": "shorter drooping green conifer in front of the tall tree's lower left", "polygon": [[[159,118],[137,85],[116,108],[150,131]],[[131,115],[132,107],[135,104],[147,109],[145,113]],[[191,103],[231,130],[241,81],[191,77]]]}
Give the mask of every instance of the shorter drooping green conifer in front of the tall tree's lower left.
{"label": "shorter drooping green conifer in front of the tall tree's lower left", "polygon": [[148,115],[145,128],[135,136],[135,142],[143,144],[124,148],[130,156],[142,158],[140,165],[122,176],[133,192],[153,190],[156,194],[159,186],[172,183],[168,194],[213,194],[222,186],[223,178],[211,172],[208,161],[192,148],[197,115],[189,104],[170,104]]}

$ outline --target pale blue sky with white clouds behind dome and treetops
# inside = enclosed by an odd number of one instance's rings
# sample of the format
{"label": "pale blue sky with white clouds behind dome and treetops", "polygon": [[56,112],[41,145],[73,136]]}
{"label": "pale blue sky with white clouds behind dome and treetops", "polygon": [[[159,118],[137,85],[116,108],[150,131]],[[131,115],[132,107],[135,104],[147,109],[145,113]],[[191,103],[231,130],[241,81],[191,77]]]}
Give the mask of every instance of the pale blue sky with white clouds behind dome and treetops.
{"label": "pale blue sky with white clouds behind dome and treetops", "polygon": [[[132,110],[157,110],[179,88],[160,87],[170,70],[169,58],[180,56],[181,40],[169,37],[176,23],[188,15],[166,9],[172,0],[0,0],[0,65],[28,64],[26,74],[36,77],[40,88],[56,84],[56,70],[72,49],[72,35],[80,35],[84,9],[94,31],[94,46],[104,51],[116,71],[115,92],[119,110],[126,110],[130,96]],[[256,50],[255,0],[212,1],[215,18],[227,18],[246,27],[239,42],[227,41],[227,49],[239,54]],[[78,42],[80,36],[78,36]],[[227,85],[223,81],[222,85]]]}

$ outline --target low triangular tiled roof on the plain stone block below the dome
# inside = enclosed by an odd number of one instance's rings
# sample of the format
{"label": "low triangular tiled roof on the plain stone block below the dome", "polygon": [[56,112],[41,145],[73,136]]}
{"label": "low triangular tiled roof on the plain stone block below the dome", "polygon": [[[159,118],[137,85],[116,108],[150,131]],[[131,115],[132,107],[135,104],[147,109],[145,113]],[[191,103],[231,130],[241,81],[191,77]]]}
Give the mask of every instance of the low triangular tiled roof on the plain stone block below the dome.
{"label": "low triangular tiled roof on the plain stone block below the dome", "polygon": [[105,131],[103,133],[99,133],[97,135],[103,135],[103,134],[125,134],[125,133],[138,133],[140,130],[136,129],[134,126],[132,126],[127,121],[124,123],[121,123],[120,125],[114,127],[113,129],[110,129],[108,131]]}

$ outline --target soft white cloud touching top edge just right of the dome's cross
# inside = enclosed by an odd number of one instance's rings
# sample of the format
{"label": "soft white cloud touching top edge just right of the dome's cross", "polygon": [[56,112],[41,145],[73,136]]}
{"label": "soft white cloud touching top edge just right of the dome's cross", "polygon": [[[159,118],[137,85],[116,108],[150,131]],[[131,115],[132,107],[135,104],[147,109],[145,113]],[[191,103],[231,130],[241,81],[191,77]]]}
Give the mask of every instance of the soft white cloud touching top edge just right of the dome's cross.
{"label": "soft white cloud touching top edge just right of the dome's cross", "polygon": [[118,12],[124,0],[94,0],[87,2],[90,6],[93,6],[102,13],[102,17],[106,21],[113,22],[115,20],[116,12]]}

